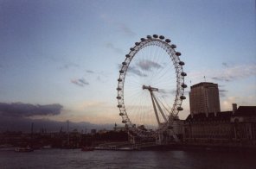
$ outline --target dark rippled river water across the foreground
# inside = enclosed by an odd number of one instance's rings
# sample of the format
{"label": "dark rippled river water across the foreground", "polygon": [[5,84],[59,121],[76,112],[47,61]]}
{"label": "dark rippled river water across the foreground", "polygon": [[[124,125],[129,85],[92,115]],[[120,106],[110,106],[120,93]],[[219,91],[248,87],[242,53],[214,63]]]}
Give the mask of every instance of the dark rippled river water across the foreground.
{"label": "dark rippled river water across the foreground", "polygon": [[35,150],[15,153],[0,150],[0,168],[256,168],[255,153],[212,150],[92,151]]}

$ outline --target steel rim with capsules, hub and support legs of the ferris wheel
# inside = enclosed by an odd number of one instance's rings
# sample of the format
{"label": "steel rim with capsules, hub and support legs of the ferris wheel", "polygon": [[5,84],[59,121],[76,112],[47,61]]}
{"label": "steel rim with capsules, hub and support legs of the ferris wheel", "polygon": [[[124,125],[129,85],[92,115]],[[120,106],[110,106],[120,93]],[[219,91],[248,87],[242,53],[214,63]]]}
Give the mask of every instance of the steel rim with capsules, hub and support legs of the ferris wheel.
{"label": "steel rim with capsules, hub and support legs of the ferris wheel", "polygon": [[[150,46],[162,47],[165,50],[165,52],[168,53],[168,55],[170,56],[170,59],[172,60],[172,63],[176,72],[176,89],[175,89],[176,96],[174,99],[174,103],[172,104],[172,108],[170,110],[169,116],[163,117],[165,122],[160,124],[159,120],[157,120],[158,122],[157,131],[151,131],[151,130],[145,131],[145,130],[141,130],[140,128],[136,128],[136,126],[131,122],[129,118],[129,112],[125,110],[125,96],[124,96],[125,86],[124,85],[125,85],[126,72],[129,69],[131,60],[134,57],[136,57],[137,53],[144,47],[150,47]],[[129,131],[131,131],[131,133],[134,133],[140,137],[152,137],[152,136],[154,137],[158,135],[157,133],[161,133],[163,132],[163,130],[170,128],[173,117],[177,116],[179,111],[183,110],[182,100],[186,99],[186,97],[184,96],[184,88],[187,87],[187,85],[184,83],[184,77],[187,74],[186,72],[183,72],[183,69],[182,69],[182,66],[184,66],[185,64],[183,61],[180,60],[181,53],[176,52],[175,48],[176,48],[176,45],[170,44],[170,39],[165,39],[163,35],[158,36],[157,34],[154,34],[153,36],[148,35],[146,38],[141,38],[139,42],[135,43],[134,47],[130,48],[130,53],[125,55],[125,61],[122,62],[121,69],[119,70],[117,99],[118,99],[119,116],[122,117],[122,122],[125,123],[126,128],[128,128]],[[157,88],[152,88],[150,86],[144,85],[143,89],[147,89],[150,91],[152,103],[153,103],[154,109],[156,109],[155,108],[156,105],[154,105],[154,103],[157,103],[157,99],[154,97],[152,91],[157,90]],[[160,108],[159,103],[157,104],[158,104],[157,107],[159,110]]]}

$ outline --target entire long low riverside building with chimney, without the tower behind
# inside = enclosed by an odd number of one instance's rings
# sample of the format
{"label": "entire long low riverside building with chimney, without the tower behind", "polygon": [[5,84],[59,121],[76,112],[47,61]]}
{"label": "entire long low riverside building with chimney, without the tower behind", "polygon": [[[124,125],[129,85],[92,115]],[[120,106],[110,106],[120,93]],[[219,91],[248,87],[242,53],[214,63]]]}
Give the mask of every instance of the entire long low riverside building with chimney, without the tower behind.
{"label": "entire long low riverside building with chimney, without the tower behind", "polygon": [[196,144],[256,146],[256,106],[233,111],[190,114],[184,122],[183,141]]}

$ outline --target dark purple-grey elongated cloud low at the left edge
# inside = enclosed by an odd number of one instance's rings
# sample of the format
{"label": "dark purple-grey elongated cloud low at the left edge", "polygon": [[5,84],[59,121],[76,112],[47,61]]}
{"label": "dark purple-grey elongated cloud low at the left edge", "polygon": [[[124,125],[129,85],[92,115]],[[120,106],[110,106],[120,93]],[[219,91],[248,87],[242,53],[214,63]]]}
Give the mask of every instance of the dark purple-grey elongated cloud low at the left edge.
{"label": "dark purple-grey elongated cloud low at the left edge", "polygon": [[59,115],[63,106],[59,103],[40,105],[30,103],[0,103],[1,116],[29,117]]}

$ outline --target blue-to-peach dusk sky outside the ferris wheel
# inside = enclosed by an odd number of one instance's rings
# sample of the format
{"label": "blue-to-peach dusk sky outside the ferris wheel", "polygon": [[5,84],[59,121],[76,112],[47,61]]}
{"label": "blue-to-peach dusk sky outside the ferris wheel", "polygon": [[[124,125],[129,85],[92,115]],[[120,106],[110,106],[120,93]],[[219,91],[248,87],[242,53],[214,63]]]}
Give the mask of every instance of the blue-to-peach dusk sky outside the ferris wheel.
{"label": "blue-to-peach dusk sky outside the ferris wheel", "polygon": [[219,84],[222,111],[256,105],[254,0],[0,0],[1,116],[121,123],[119,66],[148,34],[176,44],[188,86]]}

